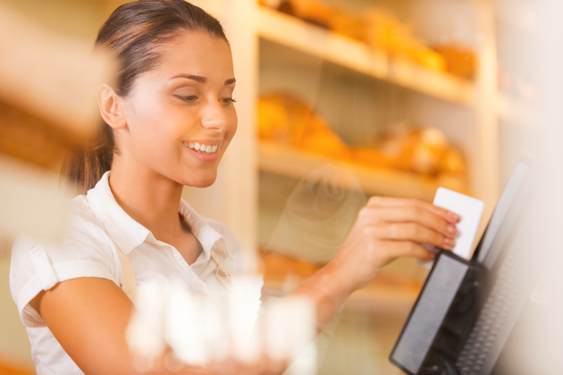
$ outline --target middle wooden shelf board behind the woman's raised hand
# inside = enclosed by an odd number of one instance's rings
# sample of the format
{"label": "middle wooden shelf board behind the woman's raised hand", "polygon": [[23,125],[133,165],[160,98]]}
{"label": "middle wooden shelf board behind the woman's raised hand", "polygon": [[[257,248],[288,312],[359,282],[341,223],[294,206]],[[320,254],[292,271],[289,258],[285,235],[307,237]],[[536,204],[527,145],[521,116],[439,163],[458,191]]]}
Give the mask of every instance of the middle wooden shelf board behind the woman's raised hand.
{"label": "middle wooden shelf board behind the woman's raised hand", "polygon": [[[307,173],[326,164],[334,164],[351,171],[358,179],[360,186],[367,195],[398,196],[433,201],[438,187],[449,187],[460,193],[471,195],[471,190],[458,179],[434,179],[417,175],[408,171],[396,171],[387,168],[367,168],[349,162],[308,154],[289,146],[281,146],[273,142],[260,141],[258,145],[258,166],[266,171],[282,176],[301,179]],[[344,187],[354,187],[354,182]]]}

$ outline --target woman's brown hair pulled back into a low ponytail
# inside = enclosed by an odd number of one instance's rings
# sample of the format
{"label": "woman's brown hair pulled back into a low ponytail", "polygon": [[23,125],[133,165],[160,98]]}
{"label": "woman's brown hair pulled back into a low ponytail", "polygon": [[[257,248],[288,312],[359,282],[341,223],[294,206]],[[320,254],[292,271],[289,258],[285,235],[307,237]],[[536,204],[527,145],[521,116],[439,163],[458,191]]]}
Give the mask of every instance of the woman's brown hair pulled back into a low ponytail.
{"label": "woman's brown hair pulled back into a low ponytail", "polygon": [[[137,76],[160,62],[159,46],[182,30],[204,31],[229,43],[219,21],[184,0],[139,0],[113,11],[97,34],[95,49],[104,48],[117,57],[121,69],[115,93],[127,96]],[[113,129],[103,121],[101,125],[97,137],[75,150],[63,165],[63,177],[82,192],[94,187],[112,166]]]}

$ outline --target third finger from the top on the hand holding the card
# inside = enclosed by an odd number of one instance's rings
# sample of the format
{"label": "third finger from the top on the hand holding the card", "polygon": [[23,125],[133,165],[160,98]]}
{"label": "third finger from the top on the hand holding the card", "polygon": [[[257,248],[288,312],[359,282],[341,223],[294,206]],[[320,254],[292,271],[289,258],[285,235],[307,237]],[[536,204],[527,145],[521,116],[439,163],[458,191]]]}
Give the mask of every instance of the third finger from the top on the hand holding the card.
{"label": "third finger from the top on the hand holding the card", "polygon": [[414,222],[390,223],[366,227],[367,234],[383,240],[411,241],[430,244],[451,250],[456,244],[453,238],[446,237],[433,229]]}

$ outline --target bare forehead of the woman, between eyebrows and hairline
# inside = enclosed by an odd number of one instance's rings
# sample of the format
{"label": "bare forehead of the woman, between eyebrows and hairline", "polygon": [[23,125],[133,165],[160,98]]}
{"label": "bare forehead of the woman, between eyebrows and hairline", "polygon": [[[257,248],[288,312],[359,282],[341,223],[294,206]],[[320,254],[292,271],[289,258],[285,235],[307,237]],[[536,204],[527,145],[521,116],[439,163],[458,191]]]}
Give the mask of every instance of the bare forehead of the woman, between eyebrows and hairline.
{"label": "bare forehead of the woman, between eyebrows and hairline", "polygon": [[161,47],[157,70],[164,75],[191,74],[222,84],[234,78],[231,47],[221,37],[204,31],[181,31]]}

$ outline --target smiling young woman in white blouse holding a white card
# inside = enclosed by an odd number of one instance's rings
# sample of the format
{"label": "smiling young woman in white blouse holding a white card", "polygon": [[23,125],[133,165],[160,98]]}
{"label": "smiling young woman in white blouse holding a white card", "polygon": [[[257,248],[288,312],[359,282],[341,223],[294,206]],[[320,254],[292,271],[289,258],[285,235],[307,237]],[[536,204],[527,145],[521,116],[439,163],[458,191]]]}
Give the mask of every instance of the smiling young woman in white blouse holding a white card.
{"label": "smiling young woman in white blouse holding a white card", "polygon": [[[113,12],[96,46],[116,54],[122,69],[114,86],[99,88],[99,138],[65,169],[88,192],[73,199],[62,243],[21,238],[13,247],[13,299],[38,374],[134,372],[124,339],[133,305],[120,287],[120,254],[139,292],[166,293],[181,278],[193,292],[226,293],[212,253],[241,269],[231,231],[181,200],[184,185],[214,183],[237,129],[236,80],[221,25],[182,0],[139,1]],[[457,222],[432,204],[372,198],[339,254],[292,295],[314,302],[322,329],[383,265],[399,256],[432,259],[421,243],[451,248]],[[185,369],[199,371],[207,370]],[[214,371],[281,373],[264,361]]]}

